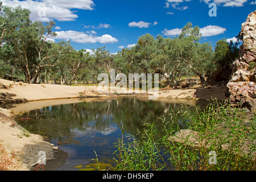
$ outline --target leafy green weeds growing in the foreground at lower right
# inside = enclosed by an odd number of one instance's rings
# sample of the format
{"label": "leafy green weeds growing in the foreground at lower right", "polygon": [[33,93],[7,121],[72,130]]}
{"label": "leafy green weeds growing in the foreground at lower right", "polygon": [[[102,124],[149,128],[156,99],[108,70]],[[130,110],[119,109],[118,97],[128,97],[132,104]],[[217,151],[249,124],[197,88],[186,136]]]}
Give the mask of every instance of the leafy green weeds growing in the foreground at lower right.
{"label": "leafy green weeds growing in the foreground at lower right", "polygon": [[[179,128],[175,123],[189,119],[189,129],[197,135],[188,135],[183,140],[173,138]],[[146,124],[146,129],[137,139],[122,135],[116,144],[117,170],[253,170],[255,169],[256,118],[247,118],[239,108],[214,101],[204,111],[196,113],[180,111],[172,113],[171,121],[162,131]],[[157,133],[164,137],[156,138]],[[195,147],[189,137],[196,137],[200,147]],[[217,154],[217,164],[210,164],[210,151]]]}

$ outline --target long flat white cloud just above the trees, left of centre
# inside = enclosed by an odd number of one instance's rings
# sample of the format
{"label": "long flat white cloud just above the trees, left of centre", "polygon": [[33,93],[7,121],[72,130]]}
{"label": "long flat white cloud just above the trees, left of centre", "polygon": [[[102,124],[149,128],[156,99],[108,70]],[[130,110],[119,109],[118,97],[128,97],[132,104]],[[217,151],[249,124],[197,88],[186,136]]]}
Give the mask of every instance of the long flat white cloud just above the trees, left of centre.
{"label": "long flat white cloud just above the trees, left of centre", "polygon": [[60,40],[71,40],[72,42],[88,44],[88,43],[102,43],[102,44],[112,44],[117,43],[118,40],[113,38],[113,36],[105,34],[102,36],[95,36],[95,35],[88,35],[84,32],[77,32],[77,31],[59,31],[56,32],[57,36],[54,39]]}

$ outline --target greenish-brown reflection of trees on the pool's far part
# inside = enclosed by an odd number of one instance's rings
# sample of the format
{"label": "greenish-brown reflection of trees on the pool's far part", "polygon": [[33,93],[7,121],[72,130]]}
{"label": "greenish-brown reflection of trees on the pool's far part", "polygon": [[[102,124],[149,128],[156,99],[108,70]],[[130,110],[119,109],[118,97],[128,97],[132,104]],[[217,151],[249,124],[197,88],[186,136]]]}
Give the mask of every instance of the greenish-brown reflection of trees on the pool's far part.
{"label": "greenish-brown reflection of trees on the pool's far part", "polygon": [[[125,132],[135,135],[143,130],[144,123],[154,122],[155,126],[163,129],[163,123],[159,118],[170,121],[170,111],[181,110],[180,104],[167,102],[140,101],[136,98],[117,98],[101,102],[81,102],[75,104],[44,107],[40,110],[23,114],[26,117],[35,118],[35,121],[27,122],[32,125],[33,131],[46,132],[52,138],[72,138],[72,131],[101,131],[108,133],[113,125],[124,126]],[[26,125],[26,121],[21,125]],[[26,127],[26,126],[25,126]]]}

